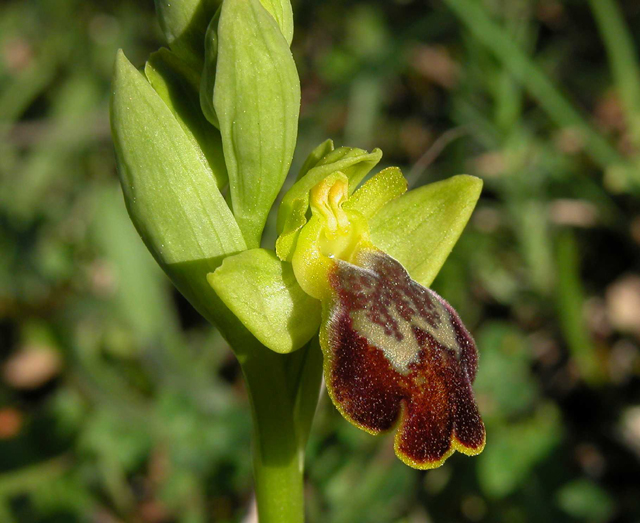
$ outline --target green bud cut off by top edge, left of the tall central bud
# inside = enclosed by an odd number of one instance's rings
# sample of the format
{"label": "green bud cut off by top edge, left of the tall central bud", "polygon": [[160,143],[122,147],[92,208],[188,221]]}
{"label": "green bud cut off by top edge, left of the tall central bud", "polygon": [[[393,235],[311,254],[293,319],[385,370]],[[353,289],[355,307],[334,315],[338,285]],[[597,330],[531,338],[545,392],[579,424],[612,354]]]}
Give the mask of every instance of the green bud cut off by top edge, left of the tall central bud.
{"label": "green bud cut off by top edge, left of the tall central bud", "polygon": [[155,0],[169,47],[198,70],[202,66],[204,34],[218,4],[218,0]]}

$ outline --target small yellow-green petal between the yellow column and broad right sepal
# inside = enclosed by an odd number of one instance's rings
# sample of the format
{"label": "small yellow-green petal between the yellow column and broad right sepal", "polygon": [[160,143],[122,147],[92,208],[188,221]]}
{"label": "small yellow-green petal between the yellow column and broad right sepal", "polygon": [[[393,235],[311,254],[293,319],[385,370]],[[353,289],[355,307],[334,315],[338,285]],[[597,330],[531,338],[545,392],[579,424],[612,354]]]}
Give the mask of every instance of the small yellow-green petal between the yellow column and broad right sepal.
{"label": "small yellow-green petal between the yellow column and broad right sepal", "polygon": [[387,203],[407,191],[407,180],[398,167],[387,167],[373,176],[344,203],[345,210],[355,209],[365,218],[373,218]]}

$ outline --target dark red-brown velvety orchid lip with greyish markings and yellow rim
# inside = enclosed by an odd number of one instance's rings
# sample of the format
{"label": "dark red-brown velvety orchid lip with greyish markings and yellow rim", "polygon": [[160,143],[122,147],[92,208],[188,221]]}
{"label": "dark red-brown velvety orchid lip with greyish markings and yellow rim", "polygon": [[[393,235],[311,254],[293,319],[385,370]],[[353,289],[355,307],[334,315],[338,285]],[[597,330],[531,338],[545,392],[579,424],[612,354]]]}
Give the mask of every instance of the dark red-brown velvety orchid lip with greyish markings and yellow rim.
{"label": "dark red-brown velvety orchid lip with greyish markings and yellow rim", "polygon": [[398,425],[396,453],[416,468],[482,452],[478,355],[458,314],[387,254],[366,249],[355,262],[336,260],[321,333],[338,410],[372,434]]}

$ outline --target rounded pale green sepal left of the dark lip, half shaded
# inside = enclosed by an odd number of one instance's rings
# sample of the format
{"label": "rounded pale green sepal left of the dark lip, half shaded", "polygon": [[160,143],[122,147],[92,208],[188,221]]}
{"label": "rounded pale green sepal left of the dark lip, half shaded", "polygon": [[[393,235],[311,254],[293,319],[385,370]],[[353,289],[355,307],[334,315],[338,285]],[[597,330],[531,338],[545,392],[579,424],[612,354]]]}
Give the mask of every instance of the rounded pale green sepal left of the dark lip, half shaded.
{"label": "rounded pale green sepal left of the dark lip, half shaded", "polygon": [[224,260],[207,280],[225,305],[261,343],[287,354],[320,325],[320,302],[298,285],[291,264],[265,249]]}

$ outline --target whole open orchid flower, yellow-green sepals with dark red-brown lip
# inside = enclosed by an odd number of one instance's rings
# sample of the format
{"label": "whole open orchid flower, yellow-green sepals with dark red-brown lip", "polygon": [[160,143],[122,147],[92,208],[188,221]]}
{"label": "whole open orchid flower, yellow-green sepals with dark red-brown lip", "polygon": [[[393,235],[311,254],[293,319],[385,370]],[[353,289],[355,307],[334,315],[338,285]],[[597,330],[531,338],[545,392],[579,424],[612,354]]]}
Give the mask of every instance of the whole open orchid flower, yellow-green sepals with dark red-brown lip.
{"label": "whole open orchid flower, yellow-green sepals with dark red-brown lip", "polygon": [[[408,465],[434,468],[455,450],[480,453],[485,431],[471,390],[478,361],[473,338],[445,300],[411,279],[399,261],[376,246],[369,225],[384,224],[379,243],[395,237],[392,251],[403,252],[406,246],[399,246],[413,237],[410,258],[420,274],[423,237],[411,230],[407,214],[416,196],[438,189],[438,184],[398,199],[407,184],[399,169],[388,168],[354,192],[349,177],[334,169],[341,164],[357,183],[379,155],[373,160],[364,155],[364,166],[347,166],[345,157],[362,157],[346,148],[333,151],[330,142],[320,146],[325,150],[281,207],[276,249],[281,273],[289,275],[280,286],[286,289],[280,299],[284,301],[285,293],[291,297],[288,306],[276,306],[273,285],[266,290],[251,286],[246,294],[238,291],[256,270],[247,269],[248,259],[264,256],[261,251],[227,258],[209,282],[244,325],[276,352],[300,348],[319,326],[324,379],[334,405],[371,434],[397,426],[396,453]],[[450,191],[457,186],[461,201],[473,198],[480,188],[479,181],[468,176],[444,185]],[[432,232],[442,234],[437,228]],[[275,257],[273,263],[278,263]],[[257,309],[265,316],[256,314]]]}

